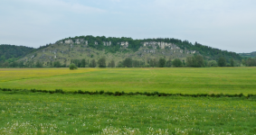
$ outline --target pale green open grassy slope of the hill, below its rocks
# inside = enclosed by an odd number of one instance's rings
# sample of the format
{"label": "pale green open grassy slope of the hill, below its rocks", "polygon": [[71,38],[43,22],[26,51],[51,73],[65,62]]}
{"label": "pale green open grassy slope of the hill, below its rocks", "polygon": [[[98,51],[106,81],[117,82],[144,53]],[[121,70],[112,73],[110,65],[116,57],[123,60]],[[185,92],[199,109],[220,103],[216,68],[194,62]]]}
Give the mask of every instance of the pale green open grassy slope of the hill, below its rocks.
{"label": "pale green open grassy slope of the hill, below its rocks", "polygon": [[[89,51],[90,49],[90,51]],[[67,44],[52,44],[51,46],[45,48],[45,49],[39,49],[37,50],[36,53],[36,57],[33,58],[33,61],[37,61],[40,60],[42,62],[44,62],[43,66],[47,67],[45,64],[47,62],[50,62],[51,59],[50,57],[52,57],[52,60],[59,60],[61,61],[62,64],[64,64],[64,59],[66,58],[67,65],[70,65],[71,63],[71,59],[82,59],[85,58],[86,60],[91,60],[91,59],[96,59],[98,60],[101,57],[105,57],[107,58],[107,64],[109,63],[109,61],[111,61],[112,59],[116,62],[116,66],[118,65],[119,61],[124,60],[125,58],[131,57],[133,59],[137,59],[140,61],[144,61],[147,62],[147,58],[181,58],[181,59],[185,59],[186,56],[192,56],[192,54],[186,54],[186,53],[180,53],[180,52],[175,52],[174,54],[170,54],[170,52],[172,52],[173,50],[170,49],[156,49],[156,53],[147,53],[144,52],[143,50],[147,49],[147,48],[140,48],[138,49],[136,52],[132,51],[131,49],[120,49],[119,51],[117,51],[116,53],[107,53],[105,50],[98,50],[98,49],[93,49],[90,48],[88,46],[84,46],[84,45],[73,45],[72,48],[70,45]],[[43,51],[45,50],[45,51]],[[56,54],[54,54],[54,51],[56,51]],[[64,51],[62,53],[62,51]],[[165,55],[163,55],[163,52],[165,53]],[[32,54],[28,54],[26,55],[26,57],[21,58],[20,60],[25,60],[25,58],[27,58],[28,60],[32,60],[31,56],[34,55],[34,53]],[[142,54],[143,56],[141,57],[138,54]],[[44,55],[44,57],[43,57]],[[90,58],[90,55],[93,55],[93,58]],[[57,58],[54,58],[54,56],[57,56]]]}

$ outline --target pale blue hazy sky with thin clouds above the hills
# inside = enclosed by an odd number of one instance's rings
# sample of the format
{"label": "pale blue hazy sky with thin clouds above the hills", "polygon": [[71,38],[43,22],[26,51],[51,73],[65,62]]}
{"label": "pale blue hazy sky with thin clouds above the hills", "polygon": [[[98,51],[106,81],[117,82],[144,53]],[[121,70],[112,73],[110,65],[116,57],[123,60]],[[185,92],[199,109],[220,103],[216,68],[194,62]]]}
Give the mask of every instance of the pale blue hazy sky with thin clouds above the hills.
{"label": "pale blue hazy sky with thin clouds above the hills", "polygon": [[256,51],[255,0],[0,0],[0,17],[0,44],[38,48],[93,35]]}

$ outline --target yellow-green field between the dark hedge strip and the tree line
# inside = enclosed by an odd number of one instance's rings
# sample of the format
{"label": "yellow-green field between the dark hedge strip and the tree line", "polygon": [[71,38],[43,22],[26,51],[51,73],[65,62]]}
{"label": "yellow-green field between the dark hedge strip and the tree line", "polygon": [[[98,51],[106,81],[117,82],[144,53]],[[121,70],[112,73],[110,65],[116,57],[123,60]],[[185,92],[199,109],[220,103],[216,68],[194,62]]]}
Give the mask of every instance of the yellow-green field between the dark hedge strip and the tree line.
{"label": "yellow-green field between the dark hedge strip and the tree line", "polygon": [[256,67],[0,69],[0,87],[64,91],[256,94]]}

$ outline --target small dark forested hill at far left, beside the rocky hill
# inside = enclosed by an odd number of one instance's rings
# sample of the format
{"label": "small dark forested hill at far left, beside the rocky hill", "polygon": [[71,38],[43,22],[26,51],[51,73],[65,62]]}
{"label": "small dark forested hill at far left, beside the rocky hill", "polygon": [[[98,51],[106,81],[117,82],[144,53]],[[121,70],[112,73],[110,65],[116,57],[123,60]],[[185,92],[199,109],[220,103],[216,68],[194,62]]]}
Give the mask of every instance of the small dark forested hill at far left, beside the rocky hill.
{"label": "small dark forested hill at far left, beside the rocky hill", "polygon": [[22,58],[26,54],[29,54],[33,51],[33,48],[24,47],[24,46],[15,46],[15,45],[0,45],[0,62],[5,60],[14,61],[17,58]]}

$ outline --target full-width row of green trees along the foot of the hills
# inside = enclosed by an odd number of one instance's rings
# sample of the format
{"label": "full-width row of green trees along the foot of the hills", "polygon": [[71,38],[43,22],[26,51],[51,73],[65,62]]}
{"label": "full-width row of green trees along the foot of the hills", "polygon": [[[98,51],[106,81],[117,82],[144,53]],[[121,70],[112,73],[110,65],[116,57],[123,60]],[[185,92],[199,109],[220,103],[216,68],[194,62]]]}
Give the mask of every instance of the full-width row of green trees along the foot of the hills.
{"label": "full-width row of green trees along the foot of the hills", "polygon": [[[76,67],[255,67],[256,58],[242,59],[242,61],[235,60],[234,58],[226,60],[226,58],[220,57],[217,60],[206,60],[202,55],[194,55],[192,57],[186,57],[185,59],[171,59],[171,58],[150,58],[146,61],[125,58],[122,61],[115,61],[111,59],[107,63],[106,58],[100,59],[71,59],[71,64]],[[66,62],[61,63],[60,61],[14,61],[0,63],[0,67],[69,67]]]}

